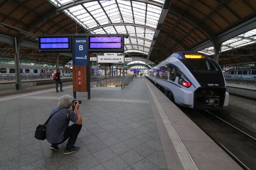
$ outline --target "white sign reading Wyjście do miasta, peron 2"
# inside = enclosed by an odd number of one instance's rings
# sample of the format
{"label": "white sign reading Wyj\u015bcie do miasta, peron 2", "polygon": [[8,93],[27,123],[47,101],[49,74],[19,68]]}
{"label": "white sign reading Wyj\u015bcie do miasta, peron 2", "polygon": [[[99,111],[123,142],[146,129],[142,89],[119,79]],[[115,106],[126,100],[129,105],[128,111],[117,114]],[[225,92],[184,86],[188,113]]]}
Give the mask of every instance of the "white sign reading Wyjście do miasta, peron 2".
{"label": "white sign reading Wyj\u015bcie do miasta, peron 2", "polygon": [[117,55],[117,53],[104,53],[104,55],[98,55],[98,63],[123,63],[123,55]]}

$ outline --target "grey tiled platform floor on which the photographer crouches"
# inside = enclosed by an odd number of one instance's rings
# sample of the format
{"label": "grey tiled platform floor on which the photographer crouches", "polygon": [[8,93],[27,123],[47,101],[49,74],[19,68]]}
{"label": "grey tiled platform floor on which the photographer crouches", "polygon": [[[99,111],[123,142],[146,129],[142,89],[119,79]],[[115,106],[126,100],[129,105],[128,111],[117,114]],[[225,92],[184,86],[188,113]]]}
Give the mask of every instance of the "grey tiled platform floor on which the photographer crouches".
{"label": "grey tiled platform floor on which the photographer crouches", "polygon": [[72,85],[0,97],[0,169],[242,169],[146,78],[118,88],[76,93],[83,128],[69,155],[34,132]]}

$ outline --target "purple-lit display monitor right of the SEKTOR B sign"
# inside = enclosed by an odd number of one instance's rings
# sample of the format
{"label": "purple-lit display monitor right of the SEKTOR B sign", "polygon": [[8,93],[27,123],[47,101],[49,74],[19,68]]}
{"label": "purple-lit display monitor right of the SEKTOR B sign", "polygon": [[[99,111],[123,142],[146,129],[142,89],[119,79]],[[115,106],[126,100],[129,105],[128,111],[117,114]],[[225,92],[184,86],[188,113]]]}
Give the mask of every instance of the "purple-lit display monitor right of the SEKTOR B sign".
{"label": "purple-lit display monitor right of the SEKTOR B sign", "polygon": [[89,51],[124,52],[123,34],[89,35]]}

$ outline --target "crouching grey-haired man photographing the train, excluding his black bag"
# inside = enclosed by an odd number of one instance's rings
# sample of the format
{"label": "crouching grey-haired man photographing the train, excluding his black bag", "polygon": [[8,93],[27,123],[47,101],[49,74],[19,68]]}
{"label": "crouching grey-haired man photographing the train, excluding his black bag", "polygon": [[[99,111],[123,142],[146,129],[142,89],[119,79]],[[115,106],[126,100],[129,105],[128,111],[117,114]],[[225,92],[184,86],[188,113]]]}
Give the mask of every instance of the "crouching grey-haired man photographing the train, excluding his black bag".
{"label": "crouching grey-haired man photographing the train, excluding his black bag", "polygon": [[[50,113],[50,115],[56,113],[46,126],[46,139],[52,144],[49,148],[51,151],[59,151],[58,145],[65,142],[67,139],[69,140],[64,150],[65,155],[80,149],[74,146],[82,128],[79,104],[81,104],[81,101],[75,101],[70,95],[63,95],[59,98],[58,107],[53,109]],[[69,110],[71,106],[72,109]],[[74,124],[69,126],[69,121],[74,122]]]}

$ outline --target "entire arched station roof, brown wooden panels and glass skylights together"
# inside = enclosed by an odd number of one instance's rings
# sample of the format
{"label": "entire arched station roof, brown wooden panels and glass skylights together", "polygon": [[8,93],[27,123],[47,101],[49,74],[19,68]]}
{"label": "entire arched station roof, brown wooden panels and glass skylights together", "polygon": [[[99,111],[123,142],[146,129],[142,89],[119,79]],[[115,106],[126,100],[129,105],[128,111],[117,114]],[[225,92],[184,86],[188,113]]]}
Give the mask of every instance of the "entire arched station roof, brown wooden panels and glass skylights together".
{"label": "entire arched station roof, brown wooden panels and glass skylights together", "polygon": [[[129,34],[125,57],[138,57],[130,66],[150,68],[177,51],[200,51],[215,59],[218,45],[222,67],[256,60],[254,1],[4,0],[0,11],[1,58],[15,55],[14,37],[20,41],[20,60],[54,64],[56,54],[38,51],[37,35]],[[58,56],[61,65],[72,60],[70,53]]]}

